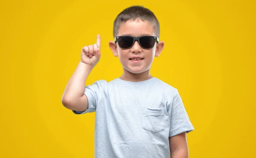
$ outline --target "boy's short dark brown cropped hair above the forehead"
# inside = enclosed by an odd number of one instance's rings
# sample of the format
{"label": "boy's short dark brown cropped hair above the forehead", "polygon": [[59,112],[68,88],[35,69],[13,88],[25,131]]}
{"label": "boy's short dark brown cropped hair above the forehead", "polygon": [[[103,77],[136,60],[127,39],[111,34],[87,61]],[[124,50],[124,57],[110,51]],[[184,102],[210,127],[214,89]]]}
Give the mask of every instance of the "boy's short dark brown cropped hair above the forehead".
{"label": "boy's short dark brown cropped hair above the forehead", "polygon": [[154,27],[155,36],[160,37],[160,25],[157,20],[157,17],[154,13],[148,8],[144,8],[143,6],[130,6],[124,9],[121,13],[119,13],[114,21],[113,26],[113,37],[116,37],[118,34],[118,30],[120,25],[125,23],[128,20],[136,20],[139,18],[142,21],[148,21]]}

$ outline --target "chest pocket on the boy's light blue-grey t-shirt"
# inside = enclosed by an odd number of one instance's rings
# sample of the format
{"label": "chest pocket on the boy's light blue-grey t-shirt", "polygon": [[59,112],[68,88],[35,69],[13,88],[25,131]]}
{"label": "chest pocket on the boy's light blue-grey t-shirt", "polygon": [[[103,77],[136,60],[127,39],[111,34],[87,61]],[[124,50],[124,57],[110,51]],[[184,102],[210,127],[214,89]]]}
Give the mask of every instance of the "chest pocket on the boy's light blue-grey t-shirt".
{"label": "chest pocket on the boy's light blue-grey t-shirt", "polygon": [[142,127],[153,133],[164,130],[164,108],[143,107]]}

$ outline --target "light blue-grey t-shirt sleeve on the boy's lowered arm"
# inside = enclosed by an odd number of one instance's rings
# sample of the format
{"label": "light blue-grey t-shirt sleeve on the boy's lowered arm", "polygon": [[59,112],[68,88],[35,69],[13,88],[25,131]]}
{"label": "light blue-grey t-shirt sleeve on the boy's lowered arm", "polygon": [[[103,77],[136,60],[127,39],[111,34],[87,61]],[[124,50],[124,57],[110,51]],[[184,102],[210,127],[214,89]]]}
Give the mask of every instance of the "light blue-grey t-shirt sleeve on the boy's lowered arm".
{"label": "light blue-grey t-shirt sleeve on the boy's lowered arm", "polygon": [[194,130],[177,89],[167,111],[170,118],[169,137]]}

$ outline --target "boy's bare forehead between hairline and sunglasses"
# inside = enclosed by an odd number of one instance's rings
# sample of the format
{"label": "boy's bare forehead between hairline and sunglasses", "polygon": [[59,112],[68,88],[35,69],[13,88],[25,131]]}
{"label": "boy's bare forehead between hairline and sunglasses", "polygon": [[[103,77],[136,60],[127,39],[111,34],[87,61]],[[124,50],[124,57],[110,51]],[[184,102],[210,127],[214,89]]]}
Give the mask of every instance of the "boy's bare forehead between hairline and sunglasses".
{"label": "boy's bare forehead between hairline and sunglasses", "polygon": [[118,31],[117,36],[130,35],[130,36],[143,36],[154,35],[154,26],[148,21],[142,20],[128,20],[123,23]]}

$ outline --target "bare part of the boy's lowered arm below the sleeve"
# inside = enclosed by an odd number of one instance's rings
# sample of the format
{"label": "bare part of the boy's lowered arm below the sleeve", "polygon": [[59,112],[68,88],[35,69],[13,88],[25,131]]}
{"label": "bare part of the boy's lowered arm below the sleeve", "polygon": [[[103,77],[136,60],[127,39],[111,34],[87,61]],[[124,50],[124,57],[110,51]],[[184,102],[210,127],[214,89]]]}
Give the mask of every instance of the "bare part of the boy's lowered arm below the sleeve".
{"label": "bare part of the boy's lowered arm below the sleeve", "polygon": [[189,158],[186,132],[169,137],[171,158]]}

